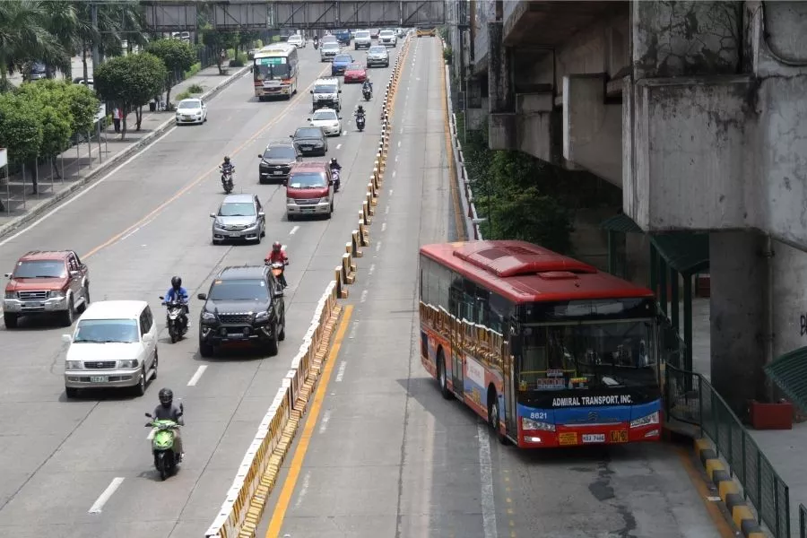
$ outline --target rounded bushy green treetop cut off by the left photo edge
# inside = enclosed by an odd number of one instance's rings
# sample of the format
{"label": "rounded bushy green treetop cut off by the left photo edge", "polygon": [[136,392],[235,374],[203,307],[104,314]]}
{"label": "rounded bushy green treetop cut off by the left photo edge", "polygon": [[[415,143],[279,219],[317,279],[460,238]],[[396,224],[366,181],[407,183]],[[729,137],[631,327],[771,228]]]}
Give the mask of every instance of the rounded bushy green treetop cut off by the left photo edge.
{"label": "rounded bushy green treetop cut off by the left photo edge", "polygon": [[39,155],[42,137],[36,105],[12,93],[0,95],[0,147],[8,149],[9,159],[33,161]]}

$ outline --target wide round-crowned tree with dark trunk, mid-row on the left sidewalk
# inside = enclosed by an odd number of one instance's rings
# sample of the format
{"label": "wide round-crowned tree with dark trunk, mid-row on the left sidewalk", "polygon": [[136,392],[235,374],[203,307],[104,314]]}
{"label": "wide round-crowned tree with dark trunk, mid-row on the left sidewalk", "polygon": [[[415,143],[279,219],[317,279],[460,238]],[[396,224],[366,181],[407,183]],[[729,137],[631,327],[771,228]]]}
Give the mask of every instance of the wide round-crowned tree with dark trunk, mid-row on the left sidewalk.
{"label": "wide round-crowned tree with dark trunk, mid-row on the left sidewalk", "polygon": [[126,139],[126,116],[133,110],[137,113],[139,130],[140,108],[162,91],[166,76],[162,60],[147,52],[111,58],[97,68],[93,77],[96,91],[123,112],[122,140]]}

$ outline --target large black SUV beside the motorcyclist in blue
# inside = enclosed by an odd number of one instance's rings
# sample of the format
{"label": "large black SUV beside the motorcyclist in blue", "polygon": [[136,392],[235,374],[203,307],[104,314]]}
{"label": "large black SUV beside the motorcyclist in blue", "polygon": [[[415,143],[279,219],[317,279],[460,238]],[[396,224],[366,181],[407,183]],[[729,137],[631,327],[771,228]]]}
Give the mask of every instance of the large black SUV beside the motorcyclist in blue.
{"label": "large black SUV beside the motorcyclist in blue", "polygon": [[200,293],[199,353],[212,357],[222,343],[251,342],[269,355],[286,337],[283,288],[265,265],[225,267]]}

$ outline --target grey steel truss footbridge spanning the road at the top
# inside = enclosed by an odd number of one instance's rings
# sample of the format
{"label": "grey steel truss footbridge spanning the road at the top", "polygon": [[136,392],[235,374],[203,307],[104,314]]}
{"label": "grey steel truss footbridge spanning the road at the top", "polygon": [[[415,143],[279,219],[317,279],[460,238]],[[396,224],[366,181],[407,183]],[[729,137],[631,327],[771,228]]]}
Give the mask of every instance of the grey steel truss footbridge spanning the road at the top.
{"label": "grey steel truss footbridge spanning the road at the top", "polygon": [[217,30],[438,26],[456,0],[181,0],[143,1],[153,31],[193,31],[197,14]]}

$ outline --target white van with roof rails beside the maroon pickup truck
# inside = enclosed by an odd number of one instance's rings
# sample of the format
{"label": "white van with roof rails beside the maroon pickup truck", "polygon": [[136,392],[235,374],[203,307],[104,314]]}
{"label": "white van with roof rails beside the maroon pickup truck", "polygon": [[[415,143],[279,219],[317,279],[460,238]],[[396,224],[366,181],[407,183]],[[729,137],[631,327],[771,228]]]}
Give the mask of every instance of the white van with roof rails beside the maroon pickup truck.
{"label": "white van with roof rails beside the maroon pickup truck", "polygon": [[92,303],[79,317],[65,356],[65,393],[74,398],[83,388],[133,387],[145,394],[157,377],[157,324],[144,300]]}

